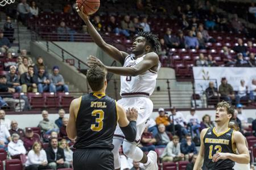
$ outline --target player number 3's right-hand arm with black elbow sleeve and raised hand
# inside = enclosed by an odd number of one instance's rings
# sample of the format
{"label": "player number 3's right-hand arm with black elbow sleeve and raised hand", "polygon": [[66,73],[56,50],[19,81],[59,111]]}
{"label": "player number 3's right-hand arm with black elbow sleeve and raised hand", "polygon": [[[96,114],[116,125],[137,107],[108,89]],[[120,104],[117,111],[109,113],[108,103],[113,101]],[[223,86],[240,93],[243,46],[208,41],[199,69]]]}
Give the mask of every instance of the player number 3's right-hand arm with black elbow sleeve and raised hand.
{"label": "player number 3's right-hand arm with black elbow sleeve and raised hand", "polygon": [[117,104],[118,124],[125,135],[127,141],[133,142],[136,138],[136,121],[138,112],[134,108],[129,108],[126,112],[121,105]]}

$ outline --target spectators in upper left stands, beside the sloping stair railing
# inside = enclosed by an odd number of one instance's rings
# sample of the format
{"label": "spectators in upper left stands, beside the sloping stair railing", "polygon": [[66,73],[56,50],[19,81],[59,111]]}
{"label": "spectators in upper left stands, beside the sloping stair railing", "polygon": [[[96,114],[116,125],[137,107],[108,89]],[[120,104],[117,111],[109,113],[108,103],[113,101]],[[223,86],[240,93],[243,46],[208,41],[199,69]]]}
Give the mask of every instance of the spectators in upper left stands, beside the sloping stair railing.
{"label": "spectators in upper left stands, beside the sloping stair railing", "polygon": [[[43,57],[38,57],[36,63],[27,55],[27,50],[20,50],[20,54],[13,53],[10,41],[0,31],[0,46],[3,58],[0,62],[0,107],[11,108],[15,111],[30,110],[27,92],[69,92],[63,76],[59,73],[59,66],[48,67]],[[13,56],[15,55],[15,56]],[[22,93],[20,99],[14,99],[14,93]]]}

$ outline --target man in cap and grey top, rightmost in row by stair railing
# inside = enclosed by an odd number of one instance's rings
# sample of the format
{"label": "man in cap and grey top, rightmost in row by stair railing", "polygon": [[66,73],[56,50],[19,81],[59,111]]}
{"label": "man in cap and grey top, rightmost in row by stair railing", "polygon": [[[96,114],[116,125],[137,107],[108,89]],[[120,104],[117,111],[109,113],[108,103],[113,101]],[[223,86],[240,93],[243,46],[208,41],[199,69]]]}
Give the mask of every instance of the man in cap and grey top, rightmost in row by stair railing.
{"label": "man in cap and grey top, rightmost in row by stair railing", "polygon": [[59,74],[60,69],[59,66],[54,66],[53,67],[53,74],[50,78],[51,83],[50,84],[50,92],[57,92],[57,91],[64,91],[68,92],[68,86],[67,84],[64,83],[64,78],[61,74]]}

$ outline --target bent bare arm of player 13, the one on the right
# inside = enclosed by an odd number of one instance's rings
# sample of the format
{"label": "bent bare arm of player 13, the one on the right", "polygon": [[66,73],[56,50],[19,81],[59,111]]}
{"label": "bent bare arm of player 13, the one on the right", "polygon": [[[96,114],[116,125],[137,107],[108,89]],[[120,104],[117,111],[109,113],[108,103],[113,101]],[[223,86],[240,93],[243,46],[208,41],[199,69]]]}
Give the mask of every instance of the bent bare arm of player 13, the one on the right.
{"label": "bent bare arm of player 13, the one on the right", "polygon": [[233,140],[234,143],[236,144],[239,154],[218,152],[213,156],[213,162],[217,162],[220,159],[230,159],[240,164],[248,164],[250,162],[250,155],[249,150],[245,144],[245,137],[243,137],[240,131],[234,131],[233,133]]}

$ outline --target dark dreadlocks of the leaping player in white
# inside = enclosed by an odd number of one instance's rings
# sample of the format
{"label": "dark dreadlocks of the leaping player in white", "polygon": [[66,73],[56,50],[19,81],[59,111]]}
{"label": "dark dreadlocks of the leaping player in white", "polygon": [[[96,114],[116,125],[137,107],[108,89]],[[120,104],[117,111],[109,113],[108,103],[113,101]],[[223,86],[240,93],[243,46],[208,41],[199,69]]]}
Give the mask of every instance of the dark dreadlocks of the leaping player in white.
{"label": "dark dreadlocks of the leaping player in white", "polygon": [[160,50],[160,42],[158,35],[152,34],[151,32],[139,32],[137,36],[134,37],[134,40],[137,37],[144,37],[148,43],[150,43],[153,52],[158,53]]}

